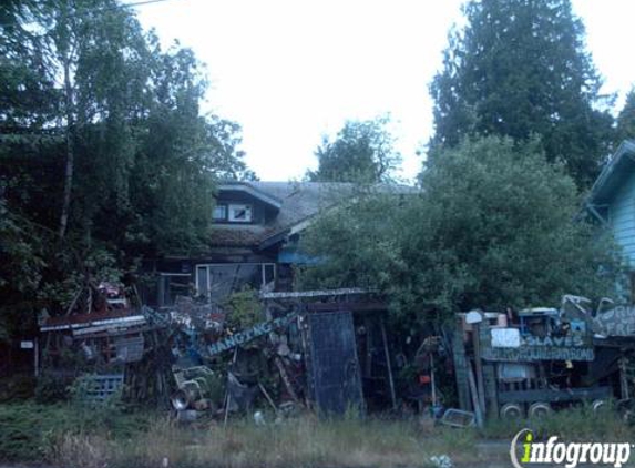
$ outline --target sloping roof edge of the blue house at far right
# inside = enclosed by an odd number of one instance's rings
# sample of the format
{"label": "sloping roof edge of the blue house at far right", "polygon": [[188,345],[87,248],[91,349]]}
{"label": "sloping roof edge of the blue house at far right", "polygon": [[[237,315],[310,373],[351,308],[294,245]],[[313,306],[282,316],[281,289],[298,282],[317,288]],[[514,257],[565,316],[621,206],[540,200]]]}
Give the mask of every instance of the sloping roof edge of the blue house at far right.
{"label": "sloping roof edge of the blue house at far right", "polygon": [[591,187],[587,203],[606,205],[635,172],[635,141],[625,140]]}

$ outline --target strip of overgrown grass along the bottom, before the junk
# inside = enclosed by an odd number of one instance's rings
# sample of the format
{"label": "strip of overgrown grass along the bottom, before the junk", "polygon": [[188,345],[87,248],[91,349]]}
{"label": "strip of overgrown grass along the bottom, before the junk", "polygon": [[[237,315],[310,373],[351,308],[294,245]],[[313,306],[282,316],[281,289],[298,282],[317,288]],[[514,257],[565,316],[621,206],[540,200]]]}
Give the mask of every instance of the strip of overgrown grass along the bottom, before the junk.
{"label": "strip of overgrown grass along the bottom, before the junk", "polygon": [[[275,419],[267,416],[267,421]],[[252,418],[231,419],[226,427],[214,420],[180,425],[166,414],[27,403],[0,405],[0,461],[73,468],[429,468],[436,466],[432,456],[448,455],[457,467],[473,467],[490,466],[501,456],[480,455],[479,441],[509,441],[524,427],[539,437],[564,440],[621,441],[635,434],[612,411],[594,415],[586,407],[540,420],[490,421],[477,431],[418,420],[318,419],[310,414],[264,426]]]}

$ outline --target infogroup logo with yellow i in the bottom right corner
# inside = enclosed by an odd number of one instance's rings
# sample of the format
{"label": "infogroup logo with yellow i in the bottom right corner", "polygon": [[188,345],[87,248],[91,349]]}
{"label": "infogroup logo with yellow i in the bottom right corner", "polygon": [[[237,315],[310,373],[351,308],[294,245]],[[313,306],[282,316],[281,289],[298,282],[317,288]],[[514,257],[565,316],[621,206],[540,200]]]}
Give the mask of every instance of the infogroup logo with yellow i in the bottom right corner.
{"label": "infogroup logo with yellow i in the bottom right corner", "polygon": [[546,442],[537,442],[530,429],[522,429],[512,439],[510,457],[514,468],[526,468],[532,464],[555,464],[565,468],[593,464],[619,468],[628,461],[631,448],[628,442],[562,442],[556,436],[550,437]]}

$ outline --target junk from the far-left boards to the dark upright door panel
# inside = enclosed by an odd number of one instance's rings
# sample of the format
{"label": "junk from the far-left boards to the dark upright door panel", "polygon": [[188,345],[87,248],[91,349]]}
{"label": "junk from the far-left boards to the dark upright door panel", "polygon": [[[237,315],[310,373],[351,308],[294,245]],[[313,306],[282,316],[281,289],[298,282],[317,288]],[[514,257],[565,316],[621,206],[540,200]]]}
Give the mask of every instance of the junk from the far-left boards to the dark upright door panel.
{"label": "junk from the far-left boards to the dark upright door panel", "polygon": [[[89,379],[96,400],[163,405],[180,421],[399,409],[406,358],[390,352],[386,303],[363,289],[260,292],[242,314],[187,295],[153,309],[129,295],[102,283],[42,317],[40,372]],[[428,370],[403,390],[414,408],[434,398],[438,348],[429,338],[417,350]]]}

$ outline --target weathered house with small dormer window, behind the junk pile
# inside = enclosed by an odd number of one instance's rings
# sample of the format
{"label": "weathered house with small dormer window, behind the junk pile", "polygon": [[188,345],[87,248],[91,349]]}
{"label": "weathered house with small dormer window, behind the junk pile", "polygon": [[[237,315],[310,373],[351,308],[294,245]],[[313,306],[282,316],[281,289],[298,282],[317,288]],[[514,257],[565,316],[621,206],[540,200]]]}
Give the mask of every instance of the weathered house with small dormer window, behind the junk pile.
{"label": "weathered house with small dormer window, behind the junk pile", "polygon": [[[412,189],[408,189],[412,190]],[[209,251],[197,257],[167,256],[148,262],[158,275],[150,305],[172,305],[178,295],[222,302],[245,286],[289,291],[293,265],[310,262],[297,252],[297,240],[315,217],[342,200],[355,185],[319,182],[225,182],[219,185],[211,216]]]}

